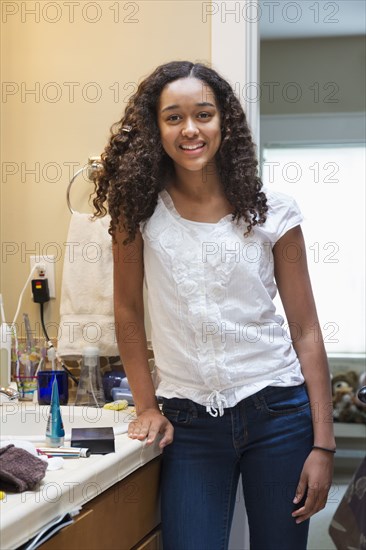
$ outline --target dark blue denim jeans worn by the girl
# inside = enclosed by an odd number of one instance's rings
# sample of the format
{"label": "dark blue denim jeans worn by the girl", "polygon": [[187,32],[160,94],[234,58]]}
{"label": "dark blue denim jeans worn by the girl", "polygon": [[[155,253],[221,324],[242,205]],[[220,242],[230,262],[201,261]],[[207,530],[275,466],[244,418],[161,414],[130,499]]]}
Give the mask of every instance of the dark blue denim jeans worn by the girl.
{"label": "dark blue denim jeans worn by the girl", "polygon": [[225,550],[240,473],[251,550],[305,550],[309,520],[292,503],[313,444],[305,384],[268,386],[212,417],[189,399],[163,398],[174,441],[163,452],[164,550]]}

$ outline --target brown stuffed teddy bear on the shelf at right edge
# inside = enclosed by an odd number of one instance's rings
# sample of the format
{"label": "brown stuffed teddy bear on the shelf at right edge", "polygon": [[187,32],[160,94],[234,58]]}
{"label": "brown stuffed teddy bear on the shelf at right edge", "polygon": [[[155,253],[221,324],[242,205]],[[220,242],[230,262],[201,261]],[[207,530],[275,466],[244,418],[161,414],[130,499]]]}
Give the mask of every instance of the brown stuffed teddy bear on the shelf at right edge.
{"label": "brown stuffed teddy bear on the shelf at right edge", "polygon": [[355,371],[347,371],[333,376],[334,421],[366,424],[366,405],[357,397],[357,391],[361,385]]}

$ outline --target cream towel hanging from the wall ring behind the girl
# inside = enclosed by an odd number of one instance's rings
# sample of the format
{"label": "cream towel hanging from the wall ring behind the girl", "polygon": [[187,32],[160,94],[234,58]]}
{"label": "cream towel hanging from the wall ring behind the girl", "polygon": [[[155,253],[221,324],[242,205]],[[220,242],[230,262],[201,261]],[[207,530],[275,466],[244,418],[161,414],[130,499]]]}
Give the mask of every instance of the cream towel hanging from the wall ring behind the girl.
{"label": "cream towel hanging from the wall ring behind the girl", "polygon": [[80,356],[98,346],[106,357],[118,356],[113,310],[110,217],[71,216],[62,277],[58,353]]}

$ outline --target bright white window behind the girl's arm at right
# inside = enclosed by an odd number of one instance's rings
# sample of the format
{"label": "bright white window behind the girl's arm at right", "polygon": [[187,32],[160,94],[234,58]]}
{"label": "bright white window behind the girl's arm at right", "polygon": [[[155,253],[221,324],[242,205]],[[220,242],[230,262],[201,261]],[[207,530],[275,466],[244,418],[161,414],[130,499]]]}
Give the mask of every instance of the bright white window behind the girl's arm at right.
{"label": "bright white window behind the girl's arm at right", "polygon": [[310,277],[329,354],[365,351],[365,166],[361,145],[263,149],[263,183],[294,197],[304,215]]}

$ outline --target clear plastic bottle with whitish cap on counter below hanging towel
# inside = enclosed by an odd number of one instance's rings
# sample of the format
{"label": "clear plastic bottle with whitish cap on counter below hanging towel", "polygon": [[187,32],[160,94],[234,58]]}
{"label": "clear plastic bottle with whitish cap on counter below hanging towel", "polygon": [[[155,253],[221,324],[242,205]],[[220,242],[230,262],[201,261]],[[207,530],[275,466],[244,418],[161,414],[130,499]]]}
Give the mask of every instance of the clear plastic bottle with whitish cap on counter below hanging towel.
{"label": "clear plastic bottle with whitish cap on counter below hanging towel", "polygon": [[75,405],[103,407],[105,402],[102,374],[100,372],[99,348],[89,346],[83,349],[83,362]]}

